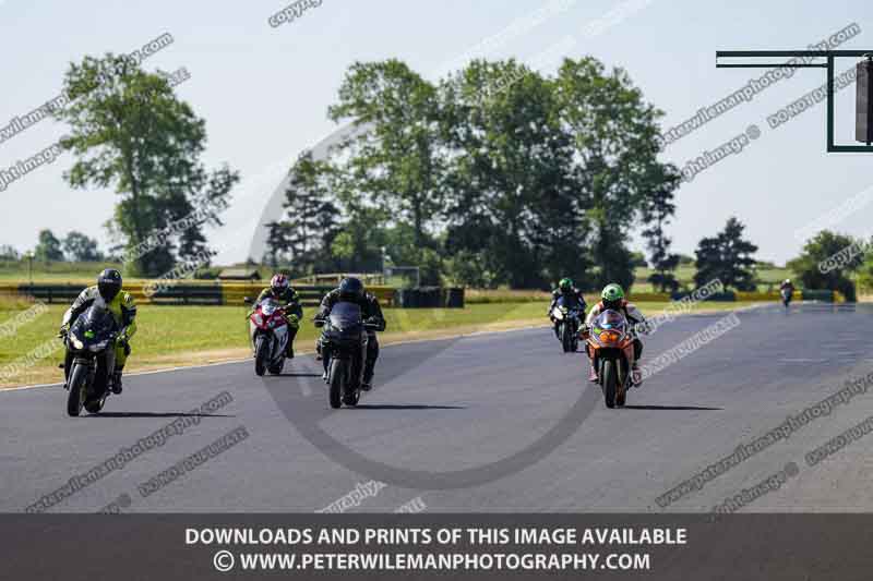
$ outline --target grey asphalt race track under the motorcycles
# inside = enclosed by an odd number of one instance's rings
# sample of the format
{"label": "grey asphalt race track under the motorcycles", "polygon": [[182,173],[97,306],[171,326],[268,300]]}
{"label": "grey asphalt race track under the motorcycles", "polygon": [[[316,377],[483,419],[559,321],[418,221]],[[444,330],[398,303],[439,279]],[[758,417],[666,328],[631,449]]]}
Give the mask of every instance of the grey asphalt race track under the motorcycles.
{"label": "grey asphalt race track under the motorcycles", "polygon": [[[647,339],[644,362],[723,316],[665,324]],[[873,371],[873,310],[864,305],[767,305],[739,317],[618,410],[584,380],[584,354],[561,353],[543,328],[384,347],[373,391],[338,411],[308,356],[280,377],[259,378],[251,363],[130,376],[105,413],[80,419],[67,417],[61,387],[0,391],[0,510],[23,511],[223,391],[230,403],[189,417],[198,423],[49,511],[95,512],[119,499],[124,512],[313,511],[346,495],[350,512],[414,499],[431,511],[701,511],[789,462],[799,472],[744,510],[873,510],[873,434],[817,465],[804,460],[871,415],[873,389],[703,489],[666,508],[655,501]],[[240,426],[246,439],[140,492]]]}

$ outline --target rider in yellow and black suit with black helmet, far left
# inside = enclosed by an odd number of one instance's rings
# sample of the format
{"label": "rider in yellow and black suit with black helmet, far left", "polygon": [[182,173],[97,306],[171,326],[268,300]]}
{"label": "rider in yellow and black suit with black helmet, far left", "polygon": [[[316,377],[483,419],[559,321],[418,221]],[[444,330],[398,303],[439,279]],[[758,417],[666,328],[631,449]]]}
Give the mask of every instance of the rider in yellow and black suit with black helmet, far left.
{"label": "rider in yellow and black suit with black helmet, far left", "polygon": [[[95,303],[106,307],[121,329],[116,338],[116,371],[110,386],[112,394],[121,394],[121,372],[124,371],[124,364],[131,352],[130,339],[136,332],[136,303],[130,293],[121,291],[121,273],[115,268],[107,268],[97,277],[97,285],[86,288],[76,296],[63,314],[60,335],[65,338],[79,315]],[[73,354],[68,349],[63,360],[65,379],[70,378],[72,366]]]}

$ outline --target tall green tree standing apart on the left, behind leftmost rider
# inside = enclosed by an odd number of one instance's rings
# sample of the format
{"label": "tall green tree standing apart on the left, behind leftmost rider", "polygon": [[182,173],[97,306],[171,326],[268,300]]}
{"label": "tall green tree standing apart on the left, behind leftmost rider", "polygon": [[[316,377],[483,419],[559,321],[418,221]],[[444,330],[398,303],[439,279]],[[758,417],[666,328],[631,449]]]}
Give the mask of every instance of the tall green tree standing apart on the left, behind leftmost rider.
{"label": "tall green tree standing apart on the left, behind leftmost rider", "polygon": [[[64,178],[75,189],[115,186],[121,196],[112,221],[133,256],[125,270],[159,275],[177,258],[202,251],[200,229],[205,222],[220,223],[218,211],[239,175],[227,167],[204,169],[205,122],[176,97],[167,75],[146,73],[111,53],[85,57],[70,65],[64,90],[71,104],[53,114],[69,123],[61,146],[76,157]],[[202,223],[174,233],[144,255],[135,253],[150,234],[195,207],[210,208]]]}

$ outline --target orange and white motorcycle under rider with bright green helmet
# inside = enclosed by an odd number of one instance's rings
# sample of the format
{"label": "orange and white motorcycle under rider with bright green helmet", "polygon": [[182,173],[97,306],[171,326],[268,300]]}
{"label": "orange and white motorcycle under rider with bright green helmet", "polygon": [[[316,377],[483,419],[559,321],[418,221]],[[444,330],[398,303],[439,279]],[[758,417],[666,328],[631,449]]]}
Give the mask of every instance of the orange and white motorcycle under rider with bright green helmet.
{"label": "orange and white motorcycle under rider with bright green helmet", "polygon": [[597,364],[598,383],[607,408],[624,406],[632,387],[634,335],[627,319],[618,311],[606,310],[584,330],[585,350]]}

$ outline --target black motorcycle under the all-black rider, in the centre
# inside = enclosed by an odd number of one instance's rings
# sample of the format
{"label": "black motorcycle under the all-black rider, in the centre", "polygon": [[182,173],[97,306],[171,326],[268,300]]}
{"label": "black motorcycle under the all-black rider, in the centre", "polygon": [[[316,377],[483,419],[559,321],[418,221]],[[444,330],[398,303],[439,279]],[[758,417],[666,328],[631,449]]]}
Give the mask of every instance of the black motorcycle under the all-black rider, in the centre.
{"label": "black motorcycle under the all-black rider, in the centre", "polygon": [[315,319],[315,326],[322,328],[321,354],[327,362],[331,408],[357,406],[367,358],[367,330],[379,326],[364,323],[361,307],[345,301],[336,303],[327,318]]}

